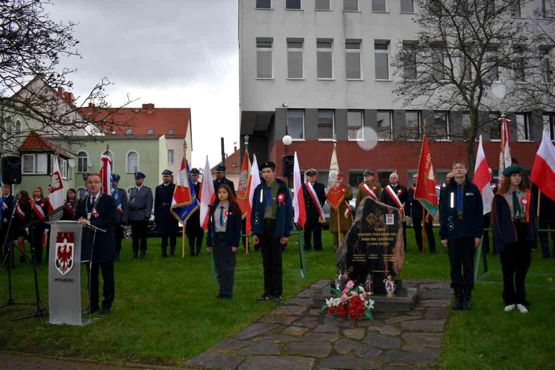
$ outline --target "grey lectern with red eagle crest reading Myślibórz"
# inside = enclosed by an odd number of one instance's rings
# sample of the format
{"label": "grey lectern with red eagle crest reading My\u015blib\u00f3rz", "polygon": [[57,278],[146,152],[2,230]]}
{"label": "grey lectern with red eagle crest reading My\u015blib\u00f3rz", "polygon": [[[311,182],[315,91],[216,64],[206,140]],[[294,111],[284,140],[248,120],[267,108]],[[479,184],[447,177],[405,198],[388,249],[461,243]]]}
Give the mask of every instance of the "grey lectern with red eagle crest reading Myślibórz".
{"label": "grey lectern with red eagle crest reading My\u015blib\u00f3rz", "polygon": [[[103,229],[77,221],[51,221],[48,257],[48,308],[51,324],[88,325],[82,315],[81,265],[93,252],[94,236]],[[87,286],[90,281],[87,269]],[[87,301],[90,300],[87,288]],[[90,303],[90,302],[89,302]]]}

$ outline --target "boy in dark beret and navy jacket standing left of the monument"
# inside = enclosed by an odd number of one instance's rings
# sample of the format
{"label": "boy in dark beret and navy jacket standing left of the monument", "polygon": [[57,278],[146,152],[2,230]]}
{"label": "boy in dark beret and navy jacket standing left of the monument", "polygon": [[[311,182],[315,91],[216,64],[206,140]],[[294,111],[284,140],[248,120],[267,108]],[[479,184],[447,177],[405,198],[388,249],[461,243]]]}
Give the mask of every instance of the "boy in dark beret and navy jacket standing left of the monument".
{"label": "boy in dark beret and navy jacket standing left of the monument", "polygon": [[274,177],[274,162],[264,162],[260,169],[264,181],[254,189],[253,209],[250,215],[253,241],[255,245],[260,245],[264,266],[264,293],[258,301],[273,300],[282,303],[281,254],[293,228],[291,192],[287,184]]}

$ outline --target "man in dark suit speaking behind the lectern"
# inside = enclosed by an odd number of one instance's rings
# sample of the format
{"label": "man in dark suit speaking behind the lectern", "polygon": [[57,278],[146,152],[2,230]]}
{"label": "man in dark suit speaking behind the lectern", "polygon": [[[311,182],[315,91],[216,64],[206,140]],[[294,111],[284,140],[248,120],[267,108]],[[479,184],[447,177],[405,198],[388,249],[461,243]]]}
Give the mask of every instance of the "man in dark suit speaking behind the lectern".
{"label": "man in dark suit speaking behind the lectern", "polygon": [[[106,230],[106,232],[94,232],[88,228],[84,229],[82,260],[87,260],[89,257],[91,259],[90,271],[88,271],[90,273],[90,306],[86,313],[94,313],[99,309],[98,270],[100,270],[104,280],[102,288],[104,301],[102,301],[100,315],[108,315],[115,295],[114,226],[118,224],[119,217],[114,198],[108,194],[101,193],[100,187],[102,187],[100,176],[90,174],[87,179],[89,194],[83,201],[79,202],[77,209],[75,209],[74,220],[85,225],[93,225]],[[92,254],[89,249],[90,246],[93,248]]]}

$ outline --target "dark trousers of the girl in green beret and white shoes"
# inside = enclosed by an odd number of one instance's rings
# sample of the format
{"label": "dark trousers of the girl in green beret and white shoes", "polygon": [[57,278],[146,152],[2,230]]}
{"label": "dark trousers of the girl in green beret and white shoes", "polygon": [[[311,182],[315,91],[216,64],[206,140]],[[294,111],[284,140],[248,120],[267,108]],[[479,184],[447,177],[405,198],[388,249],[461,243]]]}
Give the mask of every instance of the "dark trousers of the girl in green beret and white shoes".
{"label": "dark trousers of the girl in green beret and white shoes", "polygon": [[503,271],[503,301],[505,306],[520,303],[528,306],[524,280],[530,268],[531,252],[525,237],[526,224],[515,224],[517,242],[507,243],[505,251],[499,254]]}

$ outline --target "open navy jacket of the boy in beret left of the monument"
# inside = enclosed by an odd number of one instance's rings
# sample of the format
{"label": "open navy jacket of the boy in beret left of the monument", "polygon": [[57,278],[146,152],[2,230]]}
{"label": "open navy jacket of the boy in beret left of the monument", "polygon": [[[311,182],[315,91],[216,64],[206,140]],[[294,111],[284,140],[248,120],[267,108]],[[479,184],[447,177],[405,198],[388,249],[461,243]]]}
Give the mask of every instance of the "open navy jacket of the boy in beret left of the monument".
{"label": "open navy jacket of the boy in beret left of the monument", "polygon": [[[293,204],[291,202],[291,193],[289,192],[289,187],[280,179],[275,179],[278,181],[278,197],[280,194],[284,195],[283,203],[278,202],[278,210],[276,212],[276,224],[274,230],[275,237],[289,237],[291,229],[293,229]],[[266,183],[262,181],[261,184],[256,186],[253,195],[253,210],[250,215],[250,225],[253,229],[254,235],[264,234],[264,203],[265,199],[260,201],[260,192]]]}

